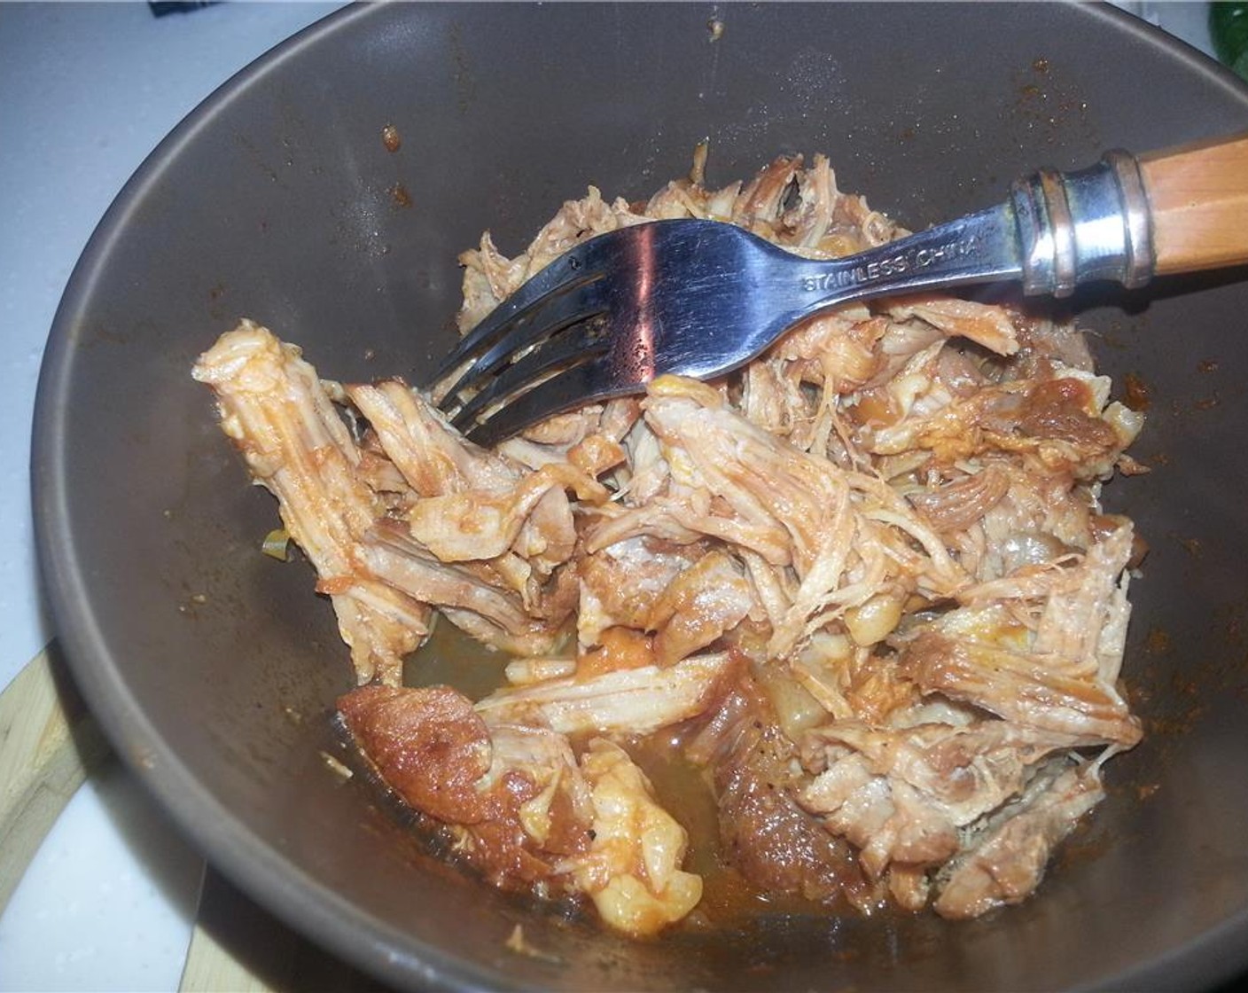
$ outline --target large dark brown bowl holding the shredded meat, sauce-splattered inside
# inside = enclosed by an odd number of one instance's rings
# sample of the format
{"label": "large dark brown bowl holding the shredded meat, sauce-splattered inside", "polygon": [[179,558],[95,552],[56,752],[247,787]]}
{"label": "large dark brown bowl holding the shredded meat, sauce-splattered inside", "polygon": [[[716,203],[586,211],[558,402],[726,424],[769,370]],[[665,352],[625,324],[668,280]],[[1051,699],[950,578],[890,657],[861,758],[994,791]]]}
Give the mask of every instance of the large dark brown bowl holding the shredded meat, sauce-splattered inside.
{"label": "large dark brown bowl holding the shredded meat, sauce-splattered inside", "polygon": [[[708,22],[723,21],[716,39]],[[398,151],[382,129],[394,125]],[[1248,281],[1075,310],[1152,395],[1114,482],[1152,542],[1127,678],[1148,738],[1040,893],[970,923],[763,918],[629,943],[447,869],[328,774],[351,668],[303,565],[257,553],[195,356],[240,316],[339,378],[419,377],[456,255],[514,251],[588,182],[648,195],[826,151],[916,227],[1036,166],[1248,127],[1248,91],[1113,9],[396,5],[352,9],[226,84],[144,164],[74,272],[39,387],[37,541],[64,646],[119,751],[256,899],[398,986],[1198,988],[1248,963]],[[409,205],[406,204],[409,199]],[[517,922],[560,966],[503,948]]]}

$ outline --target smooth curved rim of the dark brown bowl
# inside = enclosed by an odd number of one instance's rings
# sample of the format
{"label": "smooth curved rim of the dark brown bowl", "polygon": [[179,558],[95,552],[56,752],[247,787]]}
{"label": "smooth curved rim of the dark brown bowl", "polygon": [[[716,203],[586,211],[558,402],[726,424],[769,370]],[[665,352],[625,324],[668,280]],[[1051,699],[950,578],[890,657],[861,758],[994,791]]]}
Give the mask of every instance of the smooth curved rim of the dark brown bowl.
{"label": "smooth curved rim of the dark brown bowl", "polygon": [[[1167,49],[1193,72],[1248,101],[1248,86],[1184,41],[1109,4],[1083,5],[1088,16],[1114,30]],[[157,798],[210,863],[280,919],[321,947],[398,987],[453,989],[524,988],[507,976],[447,954],[361,909],[322,886],[276,848],[262,842],[207,791],[147,719],[131,694],[90,608],[90,585],[75,556],[67,512],[65,451],[69,382],[76,330],[90,312],[95,287],[126,221],[147,190],[195,137],[236,97],[288,60],[331,35],[376,16],[388,5],[354,4],[300,30],[230,76],[187,114],[147,155],[95,227],[67,281],[49,332],[36,387],[31,445],[31,505],[44,600],[56,640],[91,712],[125,764]],[[353,928],[342,922],[352,919]],[[1161,952],[1126,972],[1092,977],[1075,989],[1192,988],[1217,984],[1248,967],[1248,907],[1186,944]]]}

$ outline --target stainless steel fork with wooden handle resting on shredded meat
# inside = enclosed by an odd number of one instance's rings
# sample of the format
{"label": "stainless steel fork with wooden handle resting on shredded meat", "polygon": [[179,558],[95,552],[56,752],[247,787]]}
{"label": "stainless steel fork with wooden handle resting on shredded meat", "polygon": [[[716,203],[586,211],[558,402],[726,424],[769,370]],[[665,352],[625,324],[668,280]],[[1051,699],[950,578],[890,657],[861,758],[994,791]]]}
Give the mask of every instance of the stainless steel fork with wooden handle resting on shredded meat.
{"label": "stainless steel fork with wooden handle resting on shredded meat", "polygon": [[[1238,245],[1227,259],[1163,271],[1248,260],[1248,137],[1217,147],[1233,150],[1218,175],[1241,197]],[[663,373],[730,372],[804,317],[854,300],[1013,279],[1058,297],[1090,280],[1141,286],[1154,272],[1153,222],[1141,160],[1109,151],[1090,169],[1018,180],[998,206],[832,261],[726,222],[639,224],[588,239],[525,282],[433,382],[475,360],[439,406],[473,441],[493,443]]]}

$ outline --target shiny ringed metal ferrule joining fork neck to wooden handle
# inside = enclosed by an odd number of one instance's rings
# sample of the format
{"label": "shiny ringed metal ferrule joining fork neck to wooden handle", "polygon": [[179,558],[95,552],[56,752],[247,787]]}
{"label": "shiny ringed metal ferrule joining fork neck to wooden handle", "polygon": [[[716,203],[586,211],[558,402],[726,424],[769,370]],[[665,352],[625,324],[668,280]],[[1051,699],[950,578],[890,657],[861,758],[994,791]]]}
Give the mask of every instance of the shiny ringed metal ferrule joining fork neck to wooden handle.
{"label": "shiny ringed metal ferrule joining fork neck to wooden handle", "polygon": [[1148,202],[1128,152],[1078,172],[1042,169],[1011,186],[1008,206],[1026,294],[1068,296],[1088,280],[1137,287],[1153,275]]}

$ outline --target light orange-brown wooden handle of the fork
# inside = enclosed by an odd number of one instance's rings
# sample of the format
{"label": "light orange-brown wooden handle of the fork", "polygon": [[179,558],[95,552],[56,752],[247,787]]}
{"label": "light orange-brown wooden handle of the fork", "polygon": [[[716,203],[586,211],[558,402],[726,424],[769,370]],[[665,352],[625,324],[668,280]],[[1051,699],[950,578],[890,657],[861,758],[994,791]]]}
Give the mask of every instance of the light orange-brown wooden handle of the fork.
{"label": "light orange-brown wooden handle of the fork", "polygon": [[1157,275],[1248,262],[1248,134],[1139,159]]}

